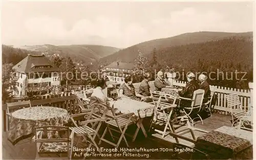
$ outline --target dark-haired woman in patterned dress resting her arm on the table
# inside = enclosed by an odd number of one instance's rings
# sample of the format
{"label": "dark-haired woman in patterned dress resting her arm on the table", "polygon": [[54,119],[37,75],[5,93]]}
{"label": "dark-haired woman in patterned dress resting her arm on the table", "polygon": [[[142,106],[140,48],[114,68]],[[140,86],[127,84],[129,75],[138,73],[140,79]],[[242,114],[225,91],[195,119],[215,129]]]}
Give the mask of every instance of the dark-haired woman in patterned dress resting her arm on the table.
{"label": "dark-haired woman in patterned dress resting her arm on the table", "polygon": [[130,75],[124,78],[124,83],[119,88],[119,97],[126,97],[134,100],[145,100],[144,96],[135,93],[133,78]]}

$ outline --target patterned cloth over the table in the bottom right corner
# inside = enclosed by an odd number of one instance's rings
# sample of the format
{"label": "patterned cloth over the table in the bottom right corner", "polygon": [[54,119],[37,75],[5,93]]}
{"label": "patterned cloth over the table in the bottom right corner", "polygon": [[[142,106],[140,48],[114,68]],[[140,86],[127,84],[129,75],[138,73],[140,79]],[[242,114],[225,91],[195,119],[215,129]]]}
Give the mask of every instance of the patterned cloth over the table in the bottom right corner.
{"label": "patterned cloth over the table in the bottom right corner", "polygon": [[211,158],[252,158],[252,132],[222,126],[197,138],[196,147]]}

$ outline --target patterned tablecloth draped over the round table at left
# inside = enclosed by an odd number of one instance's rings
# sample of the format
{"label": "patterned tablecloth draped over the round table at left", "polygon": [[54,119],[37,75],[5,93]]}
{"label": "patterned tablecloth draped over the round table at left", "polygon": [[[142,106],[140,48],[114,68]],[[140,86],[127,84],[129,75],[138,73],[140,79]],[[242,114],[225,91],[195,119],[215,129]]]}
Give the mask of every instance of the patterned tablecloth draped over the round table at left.
{"label": "patterned tablecloth draped over the round table at left", "polygon": [[35,126],[59,125],[68,123],[69,114],[65,109],[52,106],[34,106],[12,113],[8,139],[17,143],[18,139],[34,132]]}

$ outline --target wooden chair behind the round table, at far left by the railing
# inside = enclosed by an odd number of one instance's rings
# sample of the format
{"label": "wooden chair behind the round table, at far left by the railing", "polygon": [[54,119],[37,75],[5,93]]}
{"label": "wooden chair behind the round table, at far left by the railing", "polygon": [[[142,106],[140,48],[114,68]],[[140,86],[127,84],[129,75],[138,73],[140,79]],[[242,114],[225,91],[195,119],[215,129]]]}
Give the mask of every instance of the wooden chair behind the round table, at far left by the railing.
{"label": "wooden chair behind the round table, at far left by the railing", "polygon": [[20,109],[31,107],[31,103],[30,103],[30,100],[27,100],[27,101],[6,103],[6,106],[7,106],[6,126],[7,126],[7,130],[9,130],[9,121],[10,121],[10,117],[11,117],[12,113],[17,110],[20,110]]}

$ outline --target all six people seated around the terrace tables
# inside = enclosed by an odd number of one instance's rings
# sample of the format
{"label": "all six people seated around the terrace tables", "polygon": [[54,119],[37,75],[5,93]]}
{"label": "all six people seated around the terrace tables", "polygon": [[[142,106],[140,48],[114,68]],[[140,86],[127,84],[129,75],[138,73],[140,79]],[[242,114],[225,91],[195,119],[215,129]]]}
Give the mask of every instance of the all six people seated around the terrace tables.
{"label": "all six people seated around the terrace tables", "polygon": [[[144,102],[152,102],[150,85],[148,85],[148,81],[150,81],[151,74],[145,73],[144,79],[139,86],[139,92],[135,92],[135,88],[133,86],[133,77],[126,76],[124,79],[124,83],[119,88],[119,97],[131,98],[138,101]],[[203,89],[204,93],[204,101],[207,102],[208,96],[210,94],[209,84],[206,81],[207,76],[204,74],[199,75],[199,82],[196,80],[196,76],[194,73],[189,73],[187,75],[187,81],[185,88],[182,91],[179,91],[178,94],[181,97],[185,98],[193,98],[194,91],[198,89]],[[161,91],[162,88],[172,88],[173,86],[169,86],[165,80],[163,79],[163,72],[159,71],[157,73],[157,78],[155,79],[155,87],[157,91]],[[104,79],[98,79],[96,82],[96,88],[94,89],[93,94],[91,95],[90,104],[100,103],[107,104],[108,101],[113,100],[112,98],[108,98],[104,95],[103,89],[106,88],[106,81]]]}

